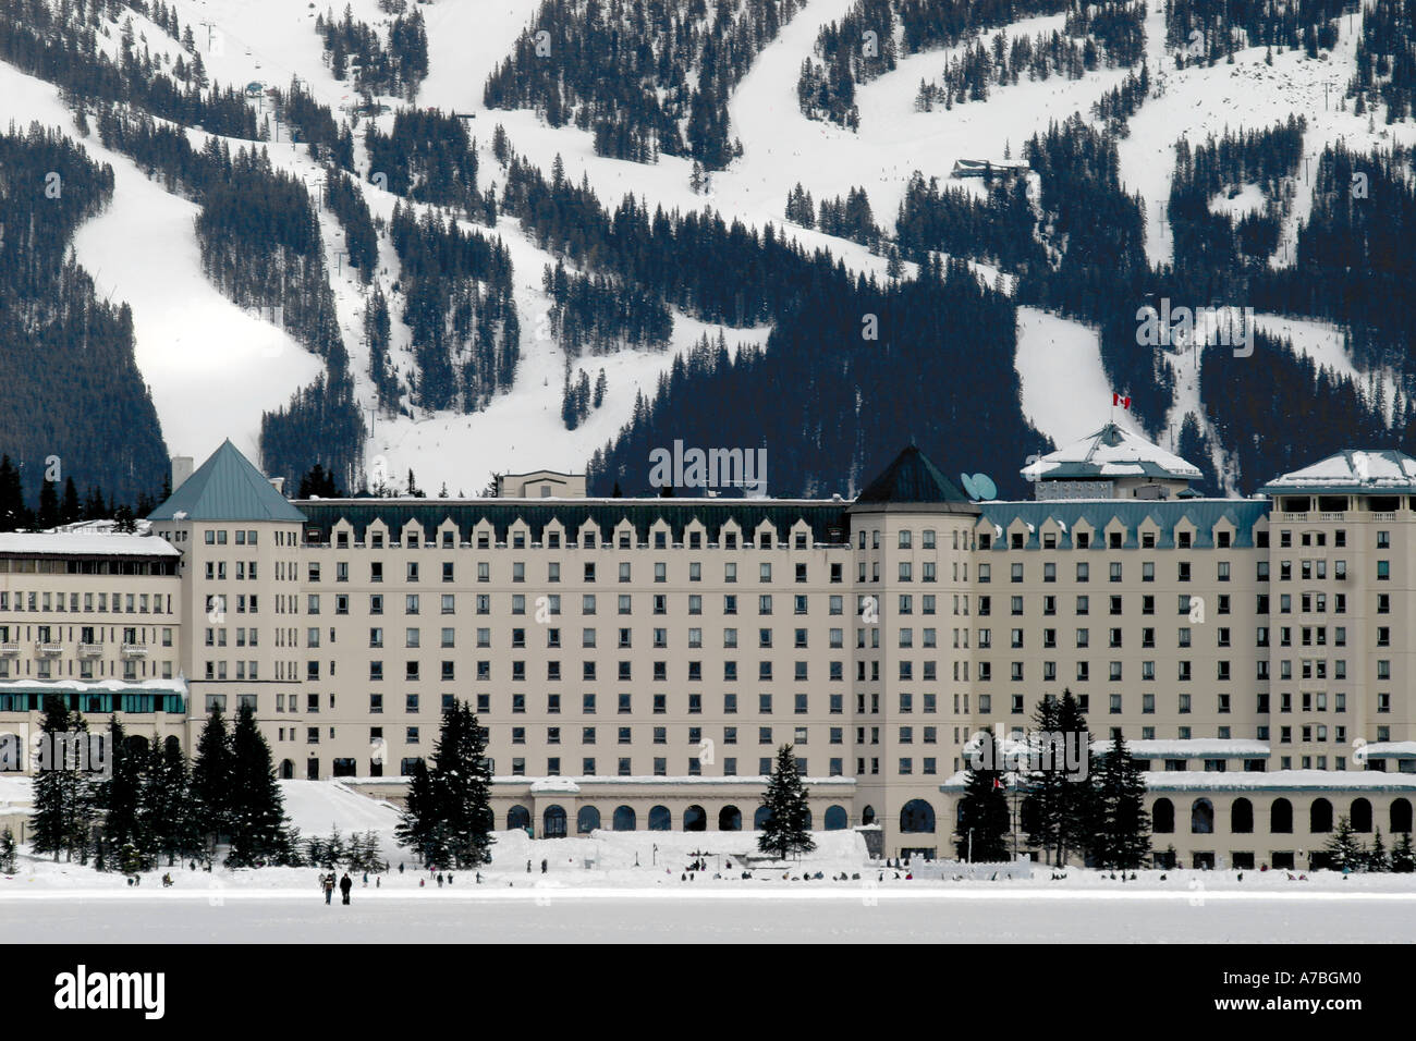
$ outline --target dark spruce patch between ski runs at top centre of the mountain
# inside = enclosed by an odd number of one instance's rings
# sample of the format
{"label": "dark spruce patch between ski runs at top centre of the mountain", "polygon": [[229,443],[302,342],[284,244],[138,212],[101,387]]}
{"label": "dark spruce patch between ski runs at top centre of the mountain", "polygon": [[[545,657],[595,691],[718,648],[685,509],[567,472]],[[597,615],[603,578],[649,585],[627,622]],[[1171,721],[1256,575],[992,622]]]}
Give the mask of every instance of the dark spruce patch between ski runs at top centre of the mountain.
{"label": "dark spruce patch between ski runs at top centre of the mountain", "polygon": [[687,156],[724,169],[728,99],[797,0],[545,0],[487,78],[487,108],[535,109],[595,135],[599,154]]}

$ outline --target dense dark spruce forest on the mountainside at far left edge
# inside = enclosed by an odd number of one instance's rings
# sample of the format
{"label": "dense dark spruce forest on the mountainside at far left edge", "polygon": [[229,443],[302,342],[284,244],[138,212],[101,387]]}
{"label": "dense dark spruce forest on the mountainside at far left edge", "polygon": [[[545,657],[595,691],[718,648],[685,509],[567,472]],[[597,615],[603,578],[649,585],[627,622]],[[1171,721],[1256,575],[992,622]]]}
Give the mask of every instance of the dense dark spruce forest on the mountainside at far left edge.
{"label": "dense dark spruce forest on the mountainside at far left edge", "polygon": [[[132,312],[96,292],[71,249],[112,198],[113,170],[38,125],[0,135],[0,448],[27,476],[57,457],[61,474],[102,474],[132,503],[161,483],[167,449]],[[28,493],[41,487],[31,477]],[[24,524],[23,504],[6,504],[7,523]]]}

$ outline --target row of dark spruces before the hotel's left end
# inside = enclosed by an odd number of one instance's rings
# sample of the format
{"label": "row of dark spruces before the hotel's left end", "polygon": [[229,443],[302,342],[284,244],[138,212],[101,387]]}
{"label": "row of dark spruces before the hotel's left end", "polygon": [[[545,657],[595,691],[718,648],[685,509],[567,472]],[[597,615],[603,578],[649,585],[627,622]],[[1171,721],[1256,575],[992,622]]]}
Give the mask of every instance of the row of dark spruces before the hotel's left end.
{"label": "row of dark spruces before the hotel's left end", "polygon": [[[88,721],[61,697],[45,698],[45,735],[86,735]],[[217,843],[229,843],[228,865],[295,864],[296,834],[285,820],[270,748],[244,707],[231,732],[219,712],[202,729],[197,758],[187,768],[181,742],[159,746],[108,728],[112,772],[95,782],[78,761],[52,763],[34,782],[31,847],[37,854],[99,870],[136,872],[166,857],[211,863]]]}

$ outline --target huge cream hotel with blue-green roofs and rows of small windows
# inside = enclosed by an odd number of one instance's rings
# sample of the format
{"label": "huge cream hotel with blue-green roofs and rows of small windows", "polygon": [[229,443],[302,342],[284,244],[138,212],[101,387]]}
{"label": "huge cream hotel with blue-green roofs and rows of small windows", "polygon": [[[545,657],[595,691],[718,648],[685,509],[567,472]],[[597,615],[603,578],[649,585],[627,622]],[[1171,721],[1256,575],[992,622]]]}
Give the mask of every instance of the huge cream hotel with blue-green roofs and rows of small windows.
{"label": "huge cream hotel with blue-green roofs and rows of small windows", "polygon": [[280,776],[398,797],[466,698],[498,826],[752,829],[790,744],[814,827],[952,855],[970,738],[1069,688],[1146,762],[1157,853],[1303,868],[1338,817],[1412,829],[1398,452],[1243,500],[1110,423],[1024,470],[1034,501],[971,501],[915,448],[854,500],[589,499],[539,472],[289,501],[229,442],[183,462],[143,534],[0,535],[0,732],[59,693],[193,749],[251,704]]}

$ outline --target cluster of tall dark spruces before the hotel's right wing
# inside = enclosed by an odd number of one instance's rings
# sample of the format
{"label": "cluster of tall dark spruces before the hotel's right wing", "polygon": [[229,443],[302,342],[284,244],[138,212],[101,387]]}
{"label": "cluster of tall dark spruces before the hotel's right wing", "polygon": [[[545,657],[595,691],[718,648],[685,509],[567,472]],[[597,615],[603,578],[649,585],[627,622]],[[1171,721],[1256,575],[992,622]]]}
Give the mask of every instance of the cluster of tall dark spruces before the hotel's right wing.
{"label": "cluster of tall dark spruces before the hotel's right wing", "polygon": [[[1086,715],[1070,690],[1061,698],[1042,698],[1032,724],[1037,735],[1082,735],[1087,742],[1082,748],[1086,776],[1078,779],[1054,762],[1049,769],[1014,772],[1010,787],[1008,770],[974,768],[974,759],[966,759],[966,789],[954,830],[959,858],[1011,860],[1014,824],[1008,804],[1021,796],[1018,827],[1027,846],[1041,850],[1049,864],[1066,864],[1076,854],[1097,868],[1146,867],[1151,853],[1146,779],[1126,741],[1116,738],[1093,759]],[[984,731],[978,739],[980,762],[1004,765],[997,748],[988,748],[997,735]]]}

